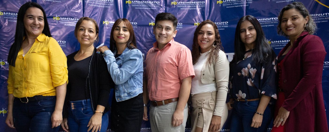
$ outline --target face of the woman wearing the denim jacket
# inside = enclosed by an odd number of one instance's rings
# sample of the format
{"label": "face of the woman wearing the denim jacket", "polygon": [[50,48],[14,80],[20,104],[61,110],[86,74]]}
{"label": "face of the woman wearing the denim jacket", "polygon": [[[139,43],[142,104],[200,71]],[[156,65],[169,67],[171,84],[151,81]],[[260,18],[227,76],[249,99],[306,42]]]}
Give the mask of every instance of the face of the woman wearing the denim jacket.
{"label": "face of the woman wearing the denim jacket", "polygon": [[119,25],[117,25],[114,28],[113,31],[113,39],[115,41],[116,45],[124,44],[126,45],[130,37],[130,32],[127,29],[127,26],[124,25],[123,22],[120,22]]}

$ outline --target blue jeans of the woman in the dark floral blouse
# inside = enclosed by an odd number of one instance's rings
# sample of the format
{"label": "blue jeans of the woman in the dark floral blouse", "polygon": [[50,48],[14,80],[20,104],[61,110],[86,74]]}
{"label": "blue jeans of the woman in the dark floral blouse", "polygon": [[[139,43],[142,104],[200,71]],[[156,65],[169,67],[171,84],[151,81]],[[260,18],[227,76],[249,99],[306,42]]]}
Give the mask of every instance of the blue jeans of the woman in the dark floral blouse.
{"label": "blue jeans of the woman in the dark floral blouse", "polygon": [[252,118],[259,105],[257,101],[234,101],[230,132],[266,132],[272,120],[272,113],[267,105],[261,127],[251,127]]}

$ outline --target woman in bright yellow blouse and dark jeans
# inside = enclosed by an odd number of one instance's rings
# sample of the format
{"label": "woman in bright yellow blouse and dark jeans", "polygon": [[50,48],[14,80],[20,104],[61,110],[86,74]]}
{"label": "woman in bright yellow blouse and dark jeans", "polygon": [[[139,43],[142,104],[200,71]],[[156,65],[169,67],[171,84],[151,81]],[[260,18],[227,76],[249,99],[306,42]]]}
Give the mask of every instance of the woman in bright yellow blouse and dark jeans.
{"label": "woman in bright yellow blouse and dark jeans", "polygon": [[18,10],[8,62],[6,124],[18,132],[57,132],[63,119],[66,57],[51,37],[43,8],[35,2]]}

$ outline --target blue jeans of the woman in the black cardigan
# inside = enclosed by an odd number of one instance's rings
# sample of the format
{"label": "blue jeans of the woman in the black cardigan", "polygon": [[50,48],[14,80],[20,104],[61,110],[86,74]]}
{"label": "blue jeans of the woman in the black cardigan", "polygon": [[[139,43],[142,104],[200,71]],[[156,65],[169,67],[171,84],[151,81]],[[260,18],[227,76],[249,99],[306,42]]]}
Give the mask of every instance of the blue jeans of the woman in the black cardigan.
{"label": "blue jeans of the woman in the black cardigan", "polygon": [[[73,104],[72,104],[73,103]],[[92,111],[90,99],[69,101],[67,125],[70,132],[87,132],[87,125],[94,111]],[[107,130],[109,125],[109,116],[107,113],[103,113],[101,132]],[[92,130],[92,129],[91,129]],[[90,130],[90,131],[91,131]]]}

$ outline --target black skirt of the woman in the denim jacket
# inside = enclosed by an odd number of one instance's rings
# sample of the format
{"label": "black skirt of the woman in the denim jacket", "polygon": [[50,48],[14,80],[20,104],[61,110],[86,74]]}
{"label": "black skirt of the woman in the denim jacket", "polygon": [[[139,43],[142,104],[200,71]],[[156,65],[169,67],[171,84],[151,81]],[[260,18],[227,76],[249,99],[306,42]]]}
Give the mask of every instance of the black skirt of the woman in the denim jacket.
{"label": "black skirt of the woman in the denim jacket", "polygon": [[116,102],[111,107],[111,130],[115,132],[140,132],[144,105],[142,93],[131,99]]}

